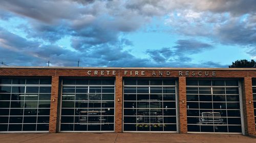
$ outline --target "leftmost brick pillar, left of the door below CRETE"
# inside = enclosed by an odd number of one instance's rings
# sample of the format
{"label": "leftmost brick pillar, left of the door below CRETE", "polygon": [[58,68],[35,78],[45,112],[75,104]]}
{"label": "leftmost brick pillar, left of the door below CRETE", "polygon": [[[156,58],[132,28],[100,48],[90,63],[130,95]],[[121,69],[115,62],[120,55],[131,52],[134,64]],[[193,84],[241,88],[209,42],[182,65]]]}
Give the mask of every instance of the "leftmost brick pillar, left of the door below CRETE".
{"label": "leftmost brick pillar, left of the door below CRETE", "polygon": [[49,122],[50,133],[57,132],[58,91],[59,91],[59,76],[52,76],[51,109],[50,109],[50,122]]}

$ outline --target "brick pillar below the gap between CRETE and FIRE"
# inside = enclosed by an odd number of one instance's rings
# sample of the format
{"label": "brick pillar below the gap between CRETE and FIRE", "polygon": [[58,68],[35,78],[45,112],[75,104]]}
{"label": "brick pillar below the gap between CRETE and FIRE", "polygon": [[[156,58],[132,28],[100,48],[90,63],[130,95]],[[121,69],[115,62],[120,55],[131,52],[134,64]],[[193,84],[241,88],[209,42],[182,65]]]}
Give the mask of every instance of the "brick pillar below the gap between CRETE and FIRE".
{"label": "brick pillar below the gap between CRETE and FIRE", "polygon": [[116,76],[116,97],[115,97],[115,132],[122,132],[122,97],[123,78]]}

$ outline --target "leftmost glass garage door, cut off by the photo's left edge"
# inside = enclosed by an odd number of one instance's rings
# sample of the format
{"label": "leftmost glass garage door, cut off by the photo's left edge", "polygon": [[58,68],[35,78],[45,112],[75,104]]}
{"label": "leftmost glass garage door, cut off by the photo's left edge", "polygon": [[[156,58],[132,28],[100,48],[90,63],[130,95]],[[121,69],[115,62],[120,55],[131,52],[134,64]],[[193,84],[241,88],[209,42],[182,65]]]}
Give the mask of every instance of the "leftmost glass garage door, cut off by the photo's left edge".
{"label": "leftmost glass garage door, cut off by the photo's left edge", "polygon": [[0,78],[0,132],[48,132],[51,79]]}

